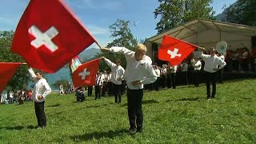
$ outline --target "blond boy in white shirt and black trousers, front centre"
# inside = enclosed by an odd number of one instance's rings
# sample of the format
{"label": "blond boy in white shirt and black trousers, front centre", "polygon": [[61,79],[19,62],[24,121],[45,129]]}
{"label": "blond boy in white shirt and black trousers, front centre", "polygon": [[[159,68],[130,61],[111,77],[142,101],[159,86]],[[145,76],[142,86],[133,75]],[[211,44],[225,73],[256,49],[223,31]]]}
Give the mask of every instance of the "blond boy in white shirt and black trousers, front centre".
{"label": "blond boy in white shirt and black trousers, front centre", "polygon": [[[122,53],[126,57],[127,66],[124,78],[127,82],[128,117],[130,122],[130,134],[142,132],[143,114],[142,98],[143,85],[155,82],[157,74],[152,67],[151,58],[146,56],[146,46],[138,44],[135,52],[125,47],[114,46],[110,49],[103,48],[103,52]],[[137,126],[136,126],[137,125]]]}

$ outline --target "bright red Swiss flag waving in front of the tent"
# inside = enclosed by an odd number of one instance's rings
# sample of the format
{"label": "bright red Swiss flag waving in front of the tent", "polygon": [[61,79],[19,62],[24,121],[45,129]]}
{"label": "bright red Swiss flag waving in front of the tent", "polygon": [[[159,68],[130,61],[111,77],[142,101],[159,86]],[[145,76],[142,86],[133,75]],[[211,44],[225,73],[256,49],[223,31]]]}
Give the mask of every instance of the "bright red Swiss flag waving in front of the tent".
{"label": "bright red Swiss flag waving in front of the tent", "polygon": [[170,66],[179,65],[196,47],[188,42],[165,35],[158,49],[158,58],[169,61]]}

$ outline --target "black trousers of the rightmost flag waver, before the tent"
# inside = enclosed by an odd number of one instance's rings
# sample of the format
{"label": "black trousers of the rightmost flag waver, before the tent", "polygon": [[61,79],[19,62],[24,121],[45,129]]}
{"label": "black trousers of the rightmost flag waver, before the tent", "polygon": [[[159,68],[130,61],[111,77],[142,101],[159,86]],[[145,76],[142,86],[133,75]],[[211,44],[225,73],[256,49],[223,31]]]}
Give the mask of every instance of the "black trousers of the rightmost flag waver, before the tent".
{"label": "black trousers of the rightmost flag waver, before the tent", "polygon": [[[207,98],[214,98],[216,94],[216,80],[218,78],[218,72],[209,73],[206,72],[206,91],[207,91]],[[210,83],[213,86],[213,90],[210,95]]]}

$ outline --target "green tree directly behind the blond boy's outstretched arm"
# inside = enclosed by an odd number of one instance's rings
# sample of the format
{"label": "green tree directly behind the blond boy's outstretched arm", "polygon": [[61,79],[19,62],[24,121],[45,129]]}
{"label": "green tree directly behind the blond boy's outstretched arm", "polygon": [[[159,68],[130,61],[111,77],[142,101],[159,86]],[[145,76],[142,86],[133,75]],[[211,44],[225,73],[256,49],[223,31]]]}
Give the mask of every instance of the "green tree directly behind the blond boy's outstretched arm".
{"label": "green tree directly behind the blond boy's outstretched arm", "polygon": [[[107,44],[106,47],[112,46],[123,46],[129,50],[134,50],[134,47],[137,46],[138,40],[134,38],[134,35],[131,33],[129,28],[130,21],[125,21],[118,19],[114,24],[110,26],[111,37],[115,38],[113,42]],[[122,67],[126,67],[126,58],[123,54],[98,54],[98,57],[105,57],[110,59],[111,62],[115,62],[116,59],[121,59]],[[110,70],[110,67],[106,65],[105,62],[100,62],[100,70]]]}

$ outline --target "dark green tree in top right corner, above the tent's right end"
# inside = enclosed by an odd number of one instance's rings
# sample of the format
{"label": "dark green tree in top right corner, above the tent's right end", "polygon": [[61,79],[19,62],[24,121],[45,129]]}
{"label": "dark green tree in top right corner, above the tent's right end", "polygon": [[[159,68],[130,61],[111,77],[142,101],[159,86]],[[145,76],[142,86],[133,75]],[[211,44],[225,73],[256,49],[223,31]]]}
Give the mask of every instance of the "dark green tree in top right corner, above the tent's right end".
{"label": "dark green tree in top right corner, above the tent's right end", "polygon": [[238,0],[224,10],[222,21],[256,26],[256,1]]}

